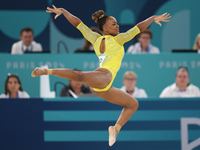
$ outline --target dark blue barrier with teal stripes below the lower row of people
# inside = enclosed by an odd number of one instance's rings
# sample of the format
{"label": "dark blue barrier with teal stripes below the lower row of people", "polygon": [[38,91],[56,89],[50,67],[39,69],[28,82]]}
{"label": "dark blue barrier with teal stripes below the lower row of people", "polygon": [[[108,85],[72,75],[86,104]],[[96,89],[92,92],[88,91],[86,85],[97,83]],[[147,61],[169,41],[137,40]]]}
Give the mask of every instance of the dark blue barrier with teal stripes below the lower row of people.
{"label": "dark blue barrier with teal stripes below the lower row of people", "polygon": [[200,149],[200,98],[138,101],[109,148],[107,128],[121,106],[100,98],[1,99],[0,149]]}

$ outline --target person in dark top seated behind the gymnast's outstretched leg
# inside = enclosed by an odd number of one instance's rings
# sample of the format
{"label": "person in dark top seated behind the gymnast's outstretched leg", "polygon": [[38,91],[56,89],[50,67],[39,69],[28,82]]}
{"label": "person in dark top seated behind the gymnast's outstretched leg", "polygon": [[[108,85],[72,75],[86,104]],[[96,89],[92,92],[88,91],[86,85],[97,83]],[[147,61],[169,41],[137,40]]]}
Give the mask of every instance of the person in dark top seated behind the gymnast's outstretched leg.
{"label": "person in dark top seated behind the gymnast's outstretched leg", "polygon": [[[73,69],[73,70],[81,71],[80,69]],[[91,93],[89,87],[84,86],[80,82],[69,80],[68,86],[65,86],[61,89],[60,97],[76,97],[83,93]]]}

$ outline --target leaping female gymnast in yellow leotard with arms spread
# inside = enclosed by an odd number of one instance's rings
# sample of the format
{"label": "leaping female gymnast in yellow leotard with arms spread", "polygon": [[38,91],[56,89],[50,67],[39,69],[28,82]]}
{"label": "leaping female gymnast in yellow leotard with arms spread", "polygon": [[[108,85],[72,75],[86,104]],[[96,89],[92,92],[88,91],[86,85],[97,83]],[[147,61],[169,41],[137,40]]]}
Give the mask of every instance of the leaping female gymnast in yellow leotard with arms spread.
{"label": "leaping female gymnast in yellow leotard with arms spread", "polygon": [[124,108],[114,126],[108,128],[109,146],[112,146],[117,138],[121,127],[129,120],[138,108],[138,101],[129,94],[120,89],[112,87],[113,80],[120,69],[121,61],[124,56],[123,44],[130,41],[138,33],[145,30],[153,21],[161,26],[160,21],[168,22],[170,14],[165,13],[159,16],[151,16],[148,19],[138,23],[125,33],[119,33],[119,25],[117,20],[104,14],[103,10],[99,10],[92,14],[92,19],[98,24],[99,29],[103,32],[103,36],[90,30],[76,16],[69,13],[63,8],[47,7],[48,13],[55,13],[55,19],[63,14],[66,19],[92,43],[96,55],[99,57],[100,67],[94,71],[80,72],[71,69],[43,69],[36,68],[32,72],[32,77],[41,75],[54,75],[61,78],[67,78],[76,82],[81,82],[92,87],[97,95],[110,103],[121,105]]}

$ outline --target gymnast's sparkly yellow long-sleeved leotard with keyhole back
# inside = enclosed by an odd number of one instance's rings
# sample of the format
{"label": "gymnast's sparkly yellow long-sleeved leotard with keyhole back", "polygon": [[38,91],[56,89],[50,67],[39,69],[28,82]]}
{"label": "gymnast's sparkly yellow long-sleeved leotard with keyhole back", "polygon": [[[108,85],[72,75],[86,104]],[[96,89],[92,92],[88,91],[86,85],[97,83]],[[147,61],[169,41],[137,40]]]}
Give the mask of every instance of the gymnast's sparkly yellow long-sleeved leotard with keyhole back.
{"label": "gymnast's sparkly yellow long-sleeved leotard with keyhole back", "polygon": [[[138,33],[140,33],[140,29],[137,26],[135,26],[127,32],[120,33],[116,36],[102,36],[96,32],[93,32],[83,22],[81,22],[77,26],[77,29],[79,29],[83,36],[93,45],[95,53],[99,58],[99,68],[105,68],[112,73],[112,80],[107,87],[105,87],[104,89],[94,88],[94,90],[97,92],[107,91],[111,87],[115,76],[120,69],[121,62],[124,57],[123,44],[130,41]],[[105,52],[102,54],[100,52],[100,44],[103,38],[105,38]]]}

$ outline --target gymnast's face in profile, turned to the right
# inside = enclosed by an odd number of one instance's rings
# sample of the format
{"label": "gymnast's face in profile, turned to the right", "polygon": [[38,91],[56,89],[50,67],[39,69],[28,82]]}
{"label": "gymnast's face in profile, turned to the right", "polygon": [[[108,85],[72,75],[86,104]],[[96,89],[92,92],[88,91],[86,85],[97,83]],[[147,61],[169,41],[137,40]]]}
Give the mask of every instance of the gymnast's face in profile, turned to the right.
{"label": "gymnast's face in profile, turned to the right", "polygon": [[103,26],[103,31],[105,35],[117,35],[119,34],[119,25],[114,17],[109,17]]}

